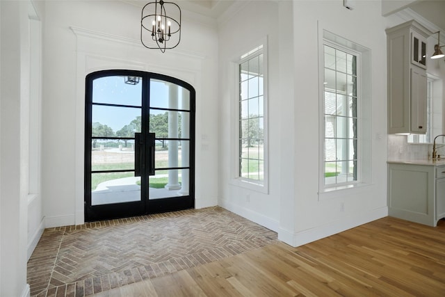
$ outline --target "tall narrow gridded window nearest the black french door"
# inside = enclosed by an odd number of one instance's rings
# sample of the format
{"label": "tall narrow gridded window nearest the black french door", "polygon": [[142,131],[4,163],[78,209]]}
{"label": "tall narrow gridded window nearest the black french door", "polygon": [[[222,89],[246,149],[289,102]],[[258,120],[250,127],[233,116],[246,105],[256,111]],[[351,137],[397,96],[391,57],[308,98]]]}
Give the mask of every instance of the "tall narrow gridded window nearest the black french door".
{"label": "tall narrow gridded window nearest the black french door", "polygon": [[237,177],[264,186],[266,179],[266,94],[263,46],[238,62]]}

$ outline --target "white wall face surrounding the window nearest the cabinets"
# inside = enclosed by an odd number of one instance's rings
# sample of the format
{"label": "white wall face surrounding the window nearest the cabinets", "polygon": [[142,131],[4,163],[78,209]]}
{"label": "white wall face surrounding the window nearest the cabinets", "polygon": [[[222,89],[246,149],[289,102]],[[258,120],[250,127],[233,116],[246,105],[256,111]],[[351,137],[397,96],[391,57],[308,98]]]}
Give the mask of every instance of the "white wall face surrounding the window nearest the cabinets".
{"label": "white wall face surrounding the window nearest the cabinets", "polygon": [[[386,37],[378,1],[357,1],[354,10],[342,1],[294,3],[296,38],[296,234],[302,244],[387,215],[386,192]],[[318,195],[318,59],[319,26],[371,51],[371,183]],[[298,42],[297,40],[303,41]],[[303,58],[304,57],[304,58]],[[305,106],[304,109],[298,108]],[[308,127],[310,127],[308,129]],[[301,145],[299,144],[301,143]],[[316,149],[314,149],[316,148]]]}

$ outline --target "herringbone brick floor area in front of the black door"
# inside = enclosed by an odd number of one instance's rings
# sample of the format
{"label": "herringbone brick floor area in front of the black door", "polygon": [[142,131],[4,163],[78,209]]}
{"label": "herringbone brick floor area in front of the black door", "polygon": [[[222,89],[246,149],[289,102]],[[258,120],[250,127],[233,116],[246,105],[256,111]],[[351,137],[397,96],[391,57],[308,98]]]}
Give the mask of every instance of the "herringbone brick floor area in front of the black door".
{"label": "herringbone brick floor area in front of the black door", "polygon": [[28,262],[31,296],[88,296],[277,242],[221,207],[44,230]]}

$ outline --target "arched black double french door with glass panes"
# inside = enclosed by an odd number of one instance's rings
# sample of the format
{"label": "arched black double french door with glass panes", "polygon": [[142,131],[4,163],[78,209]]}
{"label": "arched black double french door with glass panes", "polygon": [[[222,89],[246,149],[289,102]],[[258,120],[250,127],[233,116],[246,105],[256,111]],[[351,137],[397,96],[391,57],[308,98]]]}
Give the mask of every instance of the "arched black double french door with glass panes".
{"label": "arched black double french door with glass panes", "polygon": [[195,90],[133,70],[86,77],[85,220],[193,208]]}

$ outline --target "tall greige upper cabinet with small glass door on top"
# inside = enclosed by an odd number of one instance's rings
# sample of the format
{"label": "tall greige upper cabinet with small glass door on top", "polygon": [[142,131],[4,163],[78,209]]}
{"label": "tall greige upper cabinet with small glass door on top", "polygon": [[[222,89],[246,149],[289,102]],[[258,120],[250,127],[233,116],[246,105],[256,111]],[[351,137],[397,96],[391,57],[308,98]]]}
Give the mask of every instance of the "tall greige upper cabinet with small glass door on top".
{"label": "tall greige upper cabinet with small glass door on top", "polygon": [[431,32],[414,20],[386,32],[388,134],[425,134],[426,39]]}

